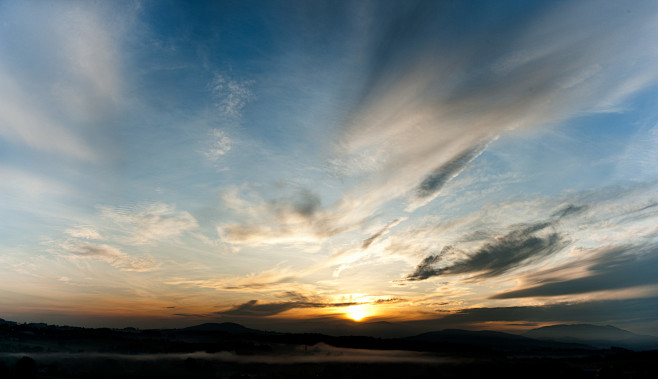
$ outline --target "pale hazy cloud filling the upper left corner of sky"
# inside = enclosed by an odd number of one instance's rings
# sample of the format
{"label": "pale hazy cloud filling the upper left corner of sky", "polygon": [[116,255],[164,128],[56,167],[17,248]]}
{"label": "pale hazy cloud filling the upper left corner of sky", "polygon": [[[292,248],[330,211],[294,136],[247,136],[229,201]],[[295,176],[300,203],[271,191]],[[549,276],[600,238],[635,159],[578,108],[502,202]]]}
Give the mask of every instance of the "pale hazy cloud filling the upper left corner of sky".
{"label": "pale hazy cloud filling the upper left corner of sky", "polygon": [[102,146],[93,141],[119,107],[121,47],[132,14],[114,6],[3,3],[0,138],[48,154],[99,159]]}

